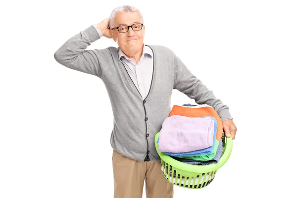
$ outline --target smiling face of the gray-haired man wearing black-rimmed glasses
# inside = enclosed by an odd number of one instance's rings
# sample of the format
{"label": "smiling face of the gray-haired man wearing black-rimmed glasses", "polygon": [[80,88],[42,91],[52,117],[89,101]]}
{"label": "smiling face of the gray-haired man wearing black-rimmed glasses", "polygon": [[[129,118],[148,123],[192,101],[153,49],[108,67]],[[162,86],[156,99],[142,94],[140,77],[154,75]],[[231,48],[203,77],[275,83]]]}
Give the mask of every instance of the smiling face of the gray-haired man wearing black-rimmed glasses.
{"label": "smiling face of the gray-haired man wearing black-rimmed glasses", "polygon": [[[113,27],[111,28],[121,25],[132,25],[135,23],[143,23],[139,12],[119,12],[115,15]],[[134,55],[134,53],[143,48],[145,26],[139,31],[134,31],[129,27],[129,31],[126,33],[120,33],[117,29],[109,31],[113,40],[117,41],[119,48],[127,55]]]}

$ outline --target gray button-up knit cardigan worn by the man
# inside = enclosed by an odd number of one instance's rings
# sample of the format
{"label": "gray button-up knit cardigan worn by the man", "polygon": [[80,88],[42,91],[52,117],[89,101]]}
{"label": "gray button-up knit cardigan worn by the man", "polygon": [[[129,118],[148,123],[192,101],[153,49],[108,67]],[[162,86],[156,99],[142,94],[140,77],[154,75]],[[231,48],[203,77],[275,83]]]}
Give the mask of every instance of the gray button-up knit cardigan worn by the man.
{"label": "gray button-up knit cardigan worn by the man", "polygon": [[148,46],[153,51],[153,74],[146,99],[142,99],[124,65],[118,48],[87,50],[100,38],[90,26],[68,39],[54,53],[55,60],[71,69],[98,76],[104,83],[113,111],[110,144],[126,157],[141,161],[160,160],[154,136],[171,110],[173,89],[212,106],[222,120],[231,118],[229,108],[216,99],[170,49]]}

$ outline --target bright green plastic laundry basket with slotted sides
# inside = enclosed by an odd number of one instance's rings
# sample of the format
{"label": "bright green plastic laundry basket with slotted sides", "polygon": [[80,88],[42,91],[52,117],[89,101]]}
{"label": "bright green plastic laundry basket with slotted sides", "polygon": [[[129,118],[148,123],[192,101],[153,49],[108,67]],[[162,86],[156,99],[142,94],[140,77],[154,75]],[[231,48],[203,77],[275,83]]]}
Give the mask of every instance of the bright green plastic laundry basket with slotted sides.
{"label": "bright green plastic laundry basket with slotted sides", "polygon": [[164,177],[172,184],[188,189],[201,189],[212,182],[217,170],[229,159],[232,151],[232,137],[222,135],[223,151],[218,163],[208,165],[192,165],[178,161],[164,152],[158,151],[157,139],[160,135],[155,135],[155,147],[161,158],[162,172]]}

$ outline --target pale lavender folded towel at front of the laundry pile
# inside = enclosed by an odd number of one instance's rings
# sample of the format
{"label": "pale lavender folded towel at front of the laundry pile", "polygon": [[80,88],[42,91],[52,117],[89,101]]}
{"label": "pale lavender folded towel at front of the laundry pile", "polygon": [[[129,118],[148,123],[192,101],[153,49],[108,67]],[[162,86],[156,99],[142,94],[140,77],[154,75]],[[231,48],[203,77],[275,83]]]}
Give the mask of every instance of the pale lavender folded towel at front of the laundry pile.
{"label": "pale lavender folded towel at front of the laundry pile", "polygon": [[214,121],[210,117],[173,115],[162,123],[161,152],[191,152],[213,145]]}

